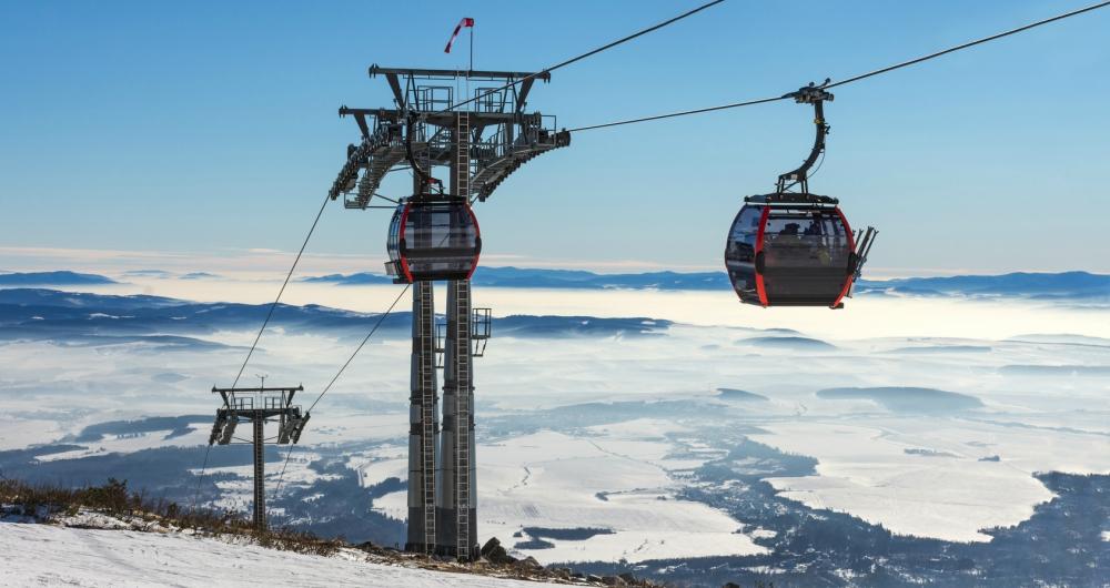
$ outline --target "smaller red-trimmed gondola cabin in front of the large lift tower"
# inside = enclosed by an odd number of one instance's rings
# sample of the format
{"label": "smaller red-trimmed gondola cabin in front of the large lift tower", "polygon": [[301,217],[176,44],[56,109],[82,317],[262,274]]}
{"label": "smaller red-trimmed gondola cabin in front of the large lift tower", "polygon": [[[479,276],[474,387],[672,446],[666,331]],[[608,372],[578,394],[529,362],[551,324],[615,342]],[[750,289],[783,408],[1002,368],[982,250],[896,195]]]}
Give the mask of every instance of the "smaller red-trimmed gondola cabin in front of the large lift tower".
{"label": "smaller red-trimmed gondola cabin in front of the large lift tower", "polygon": [[390,222],[386,273],[398,284],[468,280],[482,235],[465,199],[402,201]]}

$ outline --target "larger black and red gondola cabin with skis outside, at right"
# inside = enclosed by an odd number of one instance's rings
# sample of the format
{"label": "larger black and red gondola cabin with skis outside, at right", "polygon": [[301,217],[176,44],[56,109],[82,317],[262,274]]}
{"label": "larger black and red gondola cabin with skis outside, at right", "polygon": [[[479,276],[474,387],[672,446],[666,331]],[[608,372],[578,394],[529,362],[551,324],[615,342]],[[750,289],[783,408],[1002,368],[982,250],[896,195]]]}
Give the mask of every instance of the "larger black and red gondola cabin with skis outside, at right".
{"label": "larger black and red gondola cabin with skis outside, at right", "polygon": [[733,221],[725,266],[740,302],[839,308],[855,278],[855,251],[848,220],[835,200],[756,196],[747,199]]}

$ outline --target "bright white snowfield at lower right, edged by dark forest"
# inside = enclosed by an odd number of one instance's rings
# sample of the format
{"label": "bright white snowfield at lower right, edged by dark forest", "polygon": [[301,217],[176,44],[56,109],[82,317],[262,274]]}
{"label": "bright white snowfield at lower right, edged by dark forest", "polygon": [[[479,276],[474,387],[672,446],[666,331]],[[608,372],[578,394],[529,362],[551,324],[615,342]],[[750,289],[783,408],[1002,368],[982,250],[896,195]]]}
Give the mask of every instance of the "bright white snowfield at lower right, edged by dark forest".
{"label": "bright white snowfield at lower right, edged by dark forest", "polygon": [[990,536],[979,529],[1017,525],[1052,498],[1031,472],[981,462],[993,454],[966,443],[907,443],[904,435],[854,425],[764,428],[771,434],[753,438],[820,460],[816,476],[768,479],[776,489],[811,508],[851,513],[897,534],[987,541]]}

